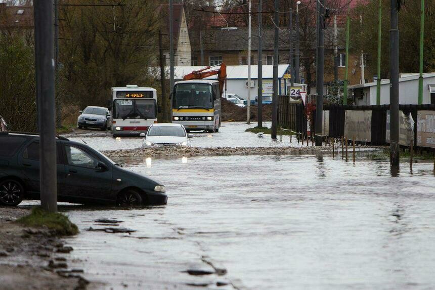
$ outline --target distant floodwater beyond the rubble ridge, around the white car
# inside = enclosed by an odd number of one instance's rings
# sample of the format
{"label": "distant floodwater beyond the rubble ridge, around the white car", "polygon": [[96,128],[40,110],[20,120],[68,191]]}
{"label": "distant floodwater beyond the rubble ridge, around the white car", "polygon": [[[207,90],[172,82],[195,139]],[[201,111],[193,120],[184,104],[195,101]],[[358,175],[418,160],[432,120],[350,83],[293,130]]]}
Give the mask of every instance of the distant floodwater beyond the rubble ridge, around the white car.
{"label": "distant floodwater beyond the rubble ridge, around the white car", "polygon": [[[242,122],[224,122],[219,129],[219,133],[202,133],[192,132],[195,136],[191,138],[193,147],[272,147],[272,146],[302,146],[298,144],[293,137],[290,143],[290,136],[282,136],[282,142],[273,141],[270,135],[259,137],[257,134],[245,132],[248,128],[257,126],[256,122],[250,125]],[[264,122],[264,126],[270,127],[270,122]],[[89,131],[88,134],[72,135],[70,140],[77,142],[86,142],[97,150],[116,150],[116,149],[134,149],[142,146],[140,137],[117,137],[112,138],[110,133],[101,133],[98,131]],[[94,137],[93,134],[100,137]],[[278,139],[280,137],[278,136]]]}

